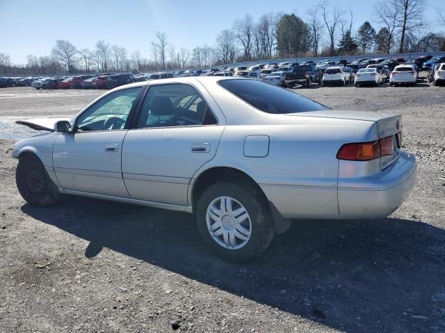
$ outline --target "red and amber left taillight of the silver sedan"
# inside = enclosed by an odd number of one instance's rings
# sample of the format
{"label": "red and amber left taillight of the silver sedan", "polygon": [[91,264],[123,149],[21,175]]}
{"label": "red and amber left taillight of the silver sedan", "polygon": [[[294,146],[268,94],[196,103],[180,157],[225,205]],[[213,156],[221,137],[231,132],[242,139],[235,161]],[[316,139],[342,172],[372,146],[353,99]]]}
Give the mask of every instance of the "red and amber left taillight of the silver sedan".
{"label": "red and amber left taillight of the silver sedan", "polygon": [[386,155],[392,155],[394,144],[392,136],[373,142],[343,144],[337,153],[339,160],[371,161]]}

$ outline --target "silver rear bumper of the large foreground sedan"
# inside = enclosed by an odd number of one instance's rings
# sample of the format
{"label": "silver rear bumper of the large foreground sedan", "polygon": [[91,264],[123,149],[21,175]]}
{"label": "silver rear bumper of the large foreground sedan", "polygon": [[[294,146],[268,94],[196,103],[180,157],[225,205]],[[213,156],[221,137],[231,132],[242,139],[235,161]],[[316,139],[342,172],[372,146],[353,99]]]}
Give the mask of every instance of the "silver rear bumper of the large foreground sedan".
{"label": "silver rear bumper of the large foreground sedan", "polygon": [[410,195],[416,168],[416,157],[402,151],[396,162],[377,175],[339,178],[339,217],[369,219],[388,216]]}

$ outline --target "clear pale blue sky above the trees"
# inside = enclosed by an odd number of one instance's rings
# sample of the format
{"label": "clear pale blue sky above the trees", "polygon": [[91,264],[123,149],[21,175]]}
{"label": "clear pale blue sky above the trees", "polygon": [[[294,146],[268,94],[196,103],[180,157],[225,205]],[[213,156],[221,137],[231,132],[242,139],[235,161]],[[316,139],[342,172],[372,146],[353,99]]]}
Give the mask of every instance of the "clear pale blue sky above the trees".
{"label": "clear pale blue sky above the trees", "polygon": [[[373,22],[377,1],[330,0],[354,14],[354,30],[364,21]],[[70,40],[78,48],[94,49],[98,40],[150,54],[157,31],[167,33],[177,50],[214,44],[218,32],[230,28],[235,18],[249,13],[255,19],[268,12],[296,12],[304,16],[318,1],[254,0],[0,0],[2,28],[0,52],[15,63],[28,54],[48,55],[58,39]],[[425,17],[431,31],[438,26],[433,8],[445,10],[444,0],[426,0]]]}

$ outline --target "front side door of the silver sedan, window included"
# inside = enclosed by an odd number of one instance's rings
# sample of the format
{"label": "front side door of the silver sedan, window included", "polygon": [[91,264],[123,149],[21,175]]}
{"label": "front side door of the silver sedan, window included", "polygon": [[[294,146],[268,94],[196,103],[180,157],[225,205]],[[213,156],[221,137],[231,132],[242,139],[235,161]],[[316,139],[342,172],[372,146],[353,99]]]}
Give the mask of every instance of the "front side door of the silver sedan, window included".
{"label": "front side door of the silver sedan, window included", "polygon": [[141,87],[113,92],[76,119],[54,144],[54,171],[64,189],[128,197],[122,179],[125,124]]}

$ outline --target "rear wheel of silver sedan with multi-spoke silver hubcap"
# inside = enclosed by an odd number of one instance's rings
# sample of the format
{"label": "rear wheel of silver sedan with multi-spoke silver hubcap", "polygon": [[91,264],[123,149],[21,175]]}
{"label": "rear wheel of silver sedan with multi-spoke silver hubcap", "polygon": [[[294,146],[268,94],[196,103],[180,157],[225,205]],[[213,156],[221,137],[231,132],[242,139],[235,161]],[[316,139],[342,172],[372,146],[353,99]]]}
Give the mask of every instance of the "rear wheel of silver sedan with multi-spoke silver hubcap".
{"label": "rear wheel of silver sedan with multi-spoke silver hubcap", "polygon": [[[227,203],[231,207],[229,210],[227,210]],[[222,207],[222,204],[225,208],[218,210],[216,207]],[[213,211],[210,210],[210,207],[213,207]],[[230,215],[232,209],[235,211],[244,209],[247,215],[241,212],[241,215],[238,216],[233,214],[234,218],[232,218]],[[207,215],[208,212],[209,215]],[[210,216],[215,216],[215,219]],[[237,223],[234,219],[239,219],[240,216],[248,217],[242,219],[241,223]],[[234,262],[240,262],[262,253],[274,235],[268,203],[254,187],[248,184],[217,182],[211,185],[198,200],[196,219],[197,228],[204,243],[223,259]],[[213,226],[215,226],[213,231],[215,234],[212,235],[210,230]],[[220,234],[216,234],[217,232]],[[229,234],[233,234],[233,238]],[[236,234],[243,238],[238,238]],[[245,236],[246,234],[248,237]]]}

